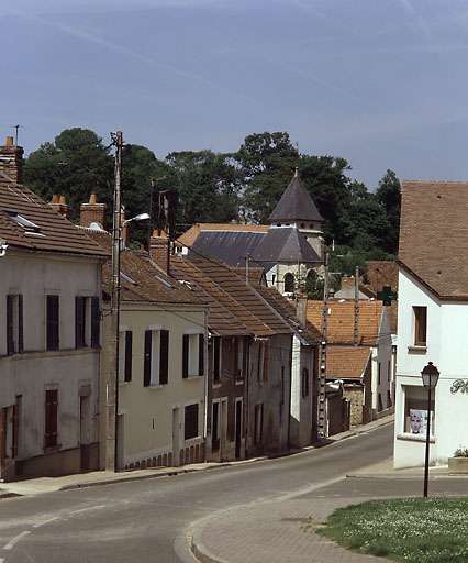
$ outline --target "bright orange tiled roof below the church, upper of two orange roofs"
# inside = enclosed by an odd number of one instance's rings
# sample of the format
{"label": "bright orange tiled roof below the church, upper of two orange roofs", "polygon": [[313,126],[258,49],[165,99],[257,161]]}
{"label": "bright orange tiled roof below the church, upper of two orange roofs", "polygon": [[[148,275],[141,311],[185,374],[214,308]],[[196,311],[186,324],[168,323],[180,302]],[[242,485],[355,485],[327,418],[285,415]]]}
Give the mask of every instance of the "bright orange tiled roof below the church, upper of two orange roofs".
{"label": "bright orange tiled roof below the church, upper of two orange roofs", "polygon": [[[360,301],[358,316],[358,344],[377,345],[383,306],[381,301]],[[308,301],[307,317],[322,328],[322,301]],[[328,344],[354,343],[354,301],[328,301],[326,341]],[[383,335],[382,335],[383,336]],[[388,336],[388,335],[387,335]]]}

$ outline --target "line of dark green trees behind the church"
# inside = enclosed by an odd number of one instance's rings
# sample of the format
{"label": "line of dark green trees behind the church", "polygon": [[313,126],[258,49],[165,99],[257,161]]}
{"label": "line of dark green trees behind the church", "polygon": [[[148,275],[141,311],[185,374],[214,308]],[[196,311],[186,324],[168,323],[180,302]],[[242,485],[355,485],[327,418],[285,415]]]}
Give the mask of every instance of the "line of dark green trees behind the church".
{"label": "line of dark green trees behind the church", "polygon": [[[46,142],[24,163],[24,183],[46,201],[66,196],[71,220],[91,191],[111,210],[113,147],[94,132],[74,128]],[[147,211],[151,225],[135,223],[132,236],[146,244],[151,228],[164,227],[160,203],[169,200],[170,234],[177,238],[194,223],[258,222],[268,217],[299,169],[302,183],[324,218],[324,234],[335,253],[352,256],[349,267],[365,260],[394,257],[398,251],[401,186],[387,170],[376,191],[346,174],[350,165],[336,156],[301,154],[287,132],[254,133],[238,151],[169,153],[164,159],[141,145],[125,144],[122,195],[127,218]],[[345,261],[346,262],[346,261]],[[342,260],[343,264],[343,260]]]}

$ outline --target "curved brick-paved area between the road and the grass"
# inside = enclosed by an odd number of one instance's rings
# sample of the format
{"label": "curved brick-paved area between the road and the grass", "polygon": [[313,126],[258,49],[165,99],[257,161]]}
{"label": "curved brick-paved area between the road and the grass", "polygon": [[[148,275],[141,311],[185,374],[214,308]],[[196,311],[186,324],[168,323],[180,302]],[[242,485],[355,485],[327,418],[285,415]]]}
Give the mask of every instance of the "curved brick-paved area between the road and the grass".
{"label": "curved brick-paved area between the road and the grass", "polygon": [[[199,528],[193,551],[203,563],[390,563],[383,558],[347,551],[314,532],[314,527],[336,508],[361,500],[294,499],[239,507]],[[309,517],[311,528],[305,526]]]}

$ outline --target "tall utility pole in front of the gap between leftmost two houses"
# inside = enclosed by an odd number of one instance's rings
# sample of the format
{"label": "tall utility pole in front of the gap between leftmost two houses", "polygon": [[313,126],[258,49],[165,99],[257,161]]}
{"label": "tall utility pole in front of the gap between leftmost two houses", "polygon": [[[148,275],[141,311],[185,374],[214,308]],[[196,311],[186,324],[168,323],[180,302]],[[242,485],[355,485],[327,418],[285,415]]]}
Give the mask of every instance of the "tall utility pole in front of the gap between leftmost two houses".
{"label": "tall utility pole in front of the gap between leftmost two houses", "polygon": [[111,330],[109,350],[109,372],[105,402],[105,470],[118,470],[119,435],[119,322],[120,322],[120,241],[122,209],[122,131],[112,135],[115,144],[115,185],[112,227],[112,290],[111,290]]}

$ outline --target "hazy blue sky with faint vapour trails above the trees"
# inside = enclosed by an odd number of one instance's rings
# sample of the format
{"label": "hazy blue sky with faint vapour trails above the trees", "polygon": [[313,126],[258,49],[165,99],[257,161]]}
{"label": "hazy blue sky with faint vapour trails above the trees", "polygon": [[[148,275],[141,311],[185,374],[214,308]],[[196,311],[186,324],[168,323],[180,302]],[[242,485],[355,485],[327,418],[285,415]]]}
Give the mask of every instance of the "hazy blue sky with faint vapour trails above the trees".
{"label": "hazy blue sky with faint vapour trails above the trees", "polygon": [[69,128],[158,158],[287,131],[374,190],[468,180],[466,0],[1,1],[0,144]]}

